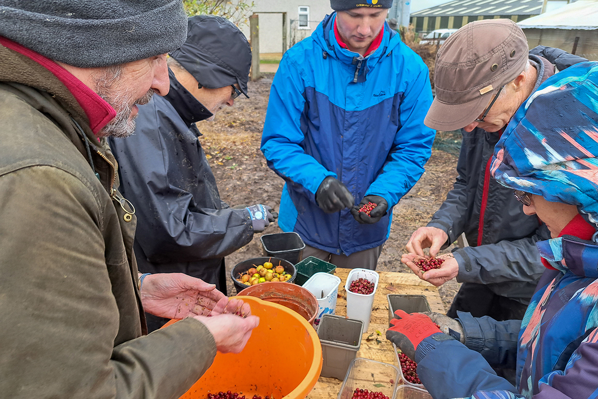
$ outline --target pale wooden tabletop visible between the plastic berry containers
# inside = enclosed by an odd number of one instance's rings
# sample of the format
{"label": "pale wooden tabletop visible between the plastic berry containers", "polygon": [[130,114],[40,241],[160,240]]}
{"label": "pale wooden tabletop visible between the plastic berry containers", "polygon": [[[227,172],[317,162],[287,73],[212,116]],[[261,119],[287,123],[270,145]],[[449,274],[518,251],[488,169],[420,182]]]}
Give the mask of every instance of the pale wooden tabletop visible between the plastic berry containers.
{"label": "pale wooden tabletop visible between the plastic berry containers", "polygon": [[[344,283],[349,275],[350,269],[336,269],[335,275],[340,277],[341,284],[338,286],[336,314],[344,316],[347,314],[346,292]],[[444,313],[443,301],[438,294],[438,288],[423,280],[420,280],[413,273],[395,273],[378,272],[380,279],[378,289],[374,294],[374,305],[370,318],[370,326],[361,338],[361,347],[357,352],[357,357],[381,361],[383,363],[398,366],[395,361],[395,354],[392,349],[392,343],[386,340],[385,333],[388,329],[388,300],[387,294],[410,294],[425,295],[432,312]],[[394,290],[393,290],[394,288]],[[377,336],[376,330],[382,333]],[[374,334],[370,340],[367,337]],[[376,337],[380,343],[376,342]],[[334,399],[340,391],[343,382],[335,378],[319,377],[316,386],[312,392],[307,395],[309,399]]]}

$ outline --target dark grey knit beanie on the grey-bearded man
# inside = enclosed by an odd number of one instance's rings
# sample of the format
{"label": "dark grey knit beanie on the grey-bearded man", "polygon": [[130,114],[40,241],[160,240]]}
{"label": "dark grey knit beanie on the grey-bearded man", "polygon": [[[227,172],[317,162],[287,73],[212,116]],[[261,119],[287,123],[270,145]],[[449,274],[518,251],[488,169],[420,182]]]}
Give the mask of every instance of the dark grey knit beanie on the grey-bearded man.
{"label": "dark grey knit beanie on the grey-bearded man", "polygon": [[168,53],[187,38],[181,0],[0,0],[0,36],[80,68]]}

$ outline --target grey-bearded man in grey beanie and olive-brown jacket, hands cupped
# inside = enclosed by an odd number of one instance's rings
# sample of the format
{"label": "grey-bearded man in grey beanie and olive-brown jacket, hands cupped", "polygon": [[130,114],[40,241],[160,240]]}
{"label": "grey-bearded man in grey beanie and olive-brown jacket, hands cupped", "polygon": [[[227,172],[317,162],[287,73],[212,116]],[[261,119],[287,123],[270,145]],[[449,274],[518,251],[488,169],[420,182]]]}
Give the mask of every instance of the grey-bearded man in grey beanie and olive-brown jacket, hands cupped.
{"label": "grey-bearded man in grey beanie and olive-brown jacket, hands cupped", "polygon": [[[166,95],[186,37],[180,0],[0,0],[3,397],[178,398],[258,325],[213,284],[140,275],[133,253],[105,138]],[[145,312],[183,320],[147,334]]]}

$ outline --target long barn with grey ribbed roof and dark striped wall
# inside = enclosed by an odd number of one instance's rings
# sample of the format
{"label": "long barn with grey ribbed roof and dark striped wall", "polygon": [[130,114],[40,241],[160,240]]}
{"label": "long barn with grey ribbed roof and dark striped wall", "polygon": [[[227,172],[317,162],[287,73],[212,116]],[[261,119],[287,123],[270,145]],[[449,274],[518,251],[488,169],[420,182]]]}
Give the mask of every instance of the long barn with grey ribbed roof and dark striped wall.
{"label": "long barn with grey ribbed roof and dark striped wall", "polygon": [[[404,0],[407,1],[407,0]],[[418,33],[458,29],[468,22],[507,18],[520,22],[542,12],[544,0],[454,0],[412,11],[410,23]]]}

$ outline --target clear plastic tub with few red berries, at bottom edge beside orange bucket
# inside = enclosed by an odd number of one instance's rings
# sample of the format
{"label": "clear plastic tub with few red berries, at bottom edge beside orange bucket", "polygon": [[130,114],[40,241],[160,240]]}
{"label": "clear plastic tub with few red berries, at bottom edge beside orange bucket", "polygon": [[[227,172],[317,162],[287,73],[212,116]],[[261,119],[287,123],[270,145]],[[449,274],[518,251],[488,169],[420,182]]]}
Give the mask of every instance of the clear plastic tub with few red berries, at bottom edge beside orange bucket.
{"label": "clear plastic tub with few red berries, at bottom edge beside orange bucket", "polygon": [[398,368],[392,364],[356,358],[347,370],[337,399],[351,399],[355,389],[382,392],[389,399],[395,399],[399,377]]}

